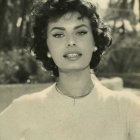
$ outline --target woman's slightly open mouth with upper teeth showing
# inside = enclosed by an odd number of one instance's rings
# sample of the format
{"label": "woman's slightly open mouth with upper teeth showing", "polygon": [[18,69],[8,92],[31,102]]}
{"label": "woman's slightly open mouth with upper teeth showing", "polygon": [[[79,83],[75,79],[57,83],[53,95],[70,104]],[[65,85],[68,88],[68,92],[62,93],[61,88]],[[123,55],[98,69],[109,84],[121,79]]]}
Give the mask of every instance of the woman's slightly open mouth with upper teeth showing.
{"label": "woman's slightly open mouth with upper teeth showing", "polygon": [[67,53],[64,55],[64,58],[69,60],[77,60],[82,56],[81,53]]}

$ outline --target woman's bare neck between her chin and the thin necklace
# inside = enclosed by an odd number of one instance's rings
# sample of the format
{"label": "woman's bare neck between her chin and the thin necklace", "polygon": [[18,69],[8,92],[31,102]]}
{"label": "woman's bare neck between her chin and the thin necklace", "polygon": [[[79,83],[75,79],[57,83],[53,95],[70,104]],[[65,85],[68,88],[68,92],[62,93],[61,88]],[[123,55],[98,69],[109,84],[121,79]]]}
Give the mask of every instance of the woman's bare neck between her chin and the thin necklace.
{"label": "woman's bare neck between her chin and the thin necklace", "polygon": [[90,69],[74,72],[60,72],[57,88],[66,96],[78,98],[86,96],[93,88]]}

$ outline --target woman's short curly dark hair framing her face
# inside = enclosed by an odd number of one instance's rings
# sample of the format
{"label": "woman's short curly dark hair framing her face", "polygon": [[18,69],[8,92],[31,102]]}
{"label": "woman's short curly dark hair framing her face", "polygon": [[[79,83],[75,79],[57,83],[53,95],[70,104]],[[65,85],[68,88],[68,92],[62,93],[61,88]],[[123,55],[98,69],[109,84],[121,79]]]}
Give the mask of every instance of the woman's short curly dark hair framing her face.
{"label": "woman's short curly dark hair framing her face", "polygon": [[59,76],[58,67],[52,58],[47,57],[48,46],[46,43],[46,28],[50,20],[59,19],[68,12],[79,12],[82,17],[90,21],[97,51],[92,54],[90,68],[94,69],[100,62],[101,55],[106,47],[111,44],[110,28],[103,23],[97,13],[97,6],[91,0],[46,0],[33,5],[32,17],[32,50],[46,70],[53,71],[54,76]]}

